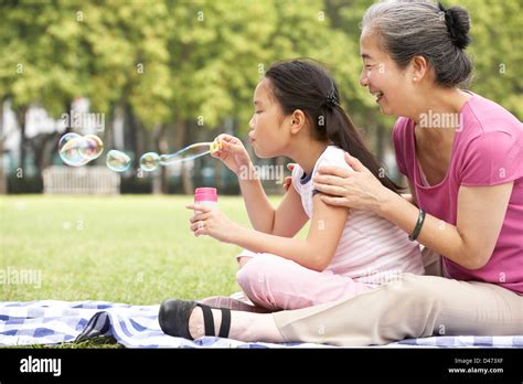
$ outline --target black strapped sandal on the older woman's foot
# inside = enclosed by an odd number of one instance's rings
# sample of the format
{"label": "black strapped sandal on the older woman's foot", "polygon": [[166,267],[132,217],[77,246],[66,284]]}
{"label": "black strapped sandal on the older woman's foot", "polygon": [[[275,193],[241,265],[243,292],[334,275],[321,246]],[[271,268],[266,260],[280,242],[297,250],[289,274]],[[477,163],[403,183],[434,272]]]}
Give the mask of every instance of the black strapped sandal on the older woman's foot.
{"label": "black strapped sandal on the older woman's foot", "polygon": [[[205,326],[205,335],[215,335],[214,318],[212,307],[202,305],[196,301],[185,301],[177,299],[168,299],[160,306],[158,313],[158,322],[163,333],[194,340],[189,332],[189,318],[195,307],[202,308],[203,323]],[[222,310],[222,324],[220,326],[220,338],[228,338],[231,330],[231,310],[227,308],[214,308]]]}

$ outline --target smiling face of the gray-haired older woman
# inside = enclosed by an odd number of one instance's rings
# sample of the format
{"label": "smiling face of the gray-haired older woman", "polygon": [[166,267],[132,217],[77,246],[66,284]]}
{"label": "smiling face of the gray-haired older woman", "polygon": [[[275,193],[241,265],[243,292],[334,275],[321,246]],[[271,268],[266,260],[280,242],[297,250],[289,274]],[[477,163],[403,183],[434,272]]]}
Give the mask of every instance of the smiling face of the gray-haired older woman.
{"label": "smiling face of the gray-haired older woman", "polygon": [[363,30],[360,39],[363,70],[360,84],[369,87],[384,115],[407,116],[409,95],[414,90],[407,77],[408,71],[401,70],[391,56],[378,45],[376,34]]}

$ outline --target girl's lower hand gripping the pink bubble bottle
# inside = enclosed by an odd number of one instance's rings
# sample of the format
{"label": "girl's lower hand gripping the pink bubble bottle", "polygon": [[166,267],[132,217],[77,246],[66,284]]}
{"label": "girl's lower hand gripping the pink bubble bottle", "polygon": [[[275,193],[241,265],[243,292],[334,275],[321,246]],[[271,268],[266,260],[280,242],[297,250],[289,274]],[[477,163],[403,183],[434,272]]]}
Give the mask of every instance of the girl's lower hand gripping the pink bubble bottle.
{"label": "girl's lower hand gripping the pink bubble bottle", "polygon": [[232,235],[237,231],[238,225],[228,220],[222,211],[198,204],[188,204],[185,207],[200,211],[190,218],[194,236],[209,235],[220,242],[231,243]]}

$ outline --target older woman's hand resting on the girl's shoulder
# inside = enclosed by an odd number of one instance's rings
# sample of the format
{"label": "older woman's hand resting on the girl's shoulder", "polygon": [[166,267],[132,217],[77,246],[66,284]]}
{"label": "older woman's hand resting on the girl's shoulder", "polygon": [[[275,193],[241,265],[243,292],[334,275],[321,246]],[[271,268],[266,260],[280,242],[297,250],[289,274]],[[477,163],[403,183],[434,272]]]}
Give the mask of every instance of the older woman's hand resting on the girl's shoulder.
{"label": "older woman's hand resting on the girl's shoulder", "polygon": [[312,181],[314,188],[324,193],[321,200],[330,205],[380,211],[392,191],[383,186],[360,160],[346,152],[345,161],[354,172],[335,166],[320,166],[318,169]]}

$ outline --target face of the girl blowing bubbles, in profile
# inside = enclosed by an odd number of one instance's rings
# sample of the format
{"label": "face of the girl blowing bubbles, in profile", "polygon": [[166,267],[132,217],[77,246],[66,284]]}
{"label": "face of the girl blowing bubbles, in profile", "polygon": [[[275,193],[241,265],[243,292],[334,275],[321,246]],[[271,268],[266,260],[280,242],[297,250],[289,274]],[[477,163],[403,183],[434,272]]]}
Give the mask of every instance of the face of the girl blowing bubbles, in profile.
{"label": "face of the girl blowing bubbles, in profile", "polygon": [[264,77],[254,92],[255,113],[249,121],[248,140],[258,158],[285,154],[289,143],[289,121],[276,100],[269,79]]}

